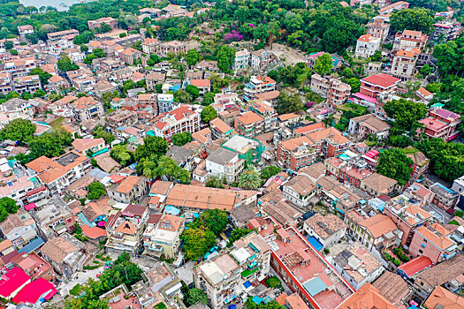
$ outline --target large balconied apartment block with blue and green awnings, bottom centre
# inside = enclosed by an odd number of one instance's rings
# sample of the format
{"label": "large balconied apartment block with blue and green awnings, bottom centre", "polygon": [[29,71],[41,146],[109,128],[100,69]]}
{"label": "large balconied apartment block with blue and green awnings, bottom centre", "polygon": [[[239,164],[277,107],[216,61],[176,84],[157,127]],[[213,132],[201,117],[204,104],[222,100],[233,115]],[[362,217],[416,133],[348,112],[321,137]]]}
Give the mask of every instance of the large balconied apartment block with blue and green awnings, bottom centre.
{"label": "large balconied apartment block with blue and green awnings, bottom centre", "polygon": [[247,299],[247,291],[269,274],[270,254],[266,240],[250,232],[233,243],[231,251],[204,260],[194,268],[194,285],[206,292],[213,308],[222,308],[232,301],[240,304]]}

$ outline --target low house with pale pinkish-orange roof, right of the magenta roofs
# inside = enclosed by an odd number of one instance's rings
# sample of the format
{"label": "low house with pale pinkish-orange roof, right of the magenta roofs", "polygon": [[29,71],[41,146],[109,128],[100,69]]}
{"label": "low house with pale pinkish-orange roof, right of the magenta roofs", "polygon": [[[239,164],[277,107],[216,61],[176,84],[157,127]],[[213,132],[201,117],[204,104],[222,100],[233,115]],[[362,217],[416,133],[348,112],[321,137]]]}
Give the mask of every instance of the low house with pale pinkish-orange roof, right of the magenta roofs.
{"label": "low house with pale pinkish-orange roof, right of the magenta roofs", "polygon": [[68,233],[49,238],[41,248],[43,259],[66,279],[80,271],[96,251],[98,249],[94,245],[89,247]]}

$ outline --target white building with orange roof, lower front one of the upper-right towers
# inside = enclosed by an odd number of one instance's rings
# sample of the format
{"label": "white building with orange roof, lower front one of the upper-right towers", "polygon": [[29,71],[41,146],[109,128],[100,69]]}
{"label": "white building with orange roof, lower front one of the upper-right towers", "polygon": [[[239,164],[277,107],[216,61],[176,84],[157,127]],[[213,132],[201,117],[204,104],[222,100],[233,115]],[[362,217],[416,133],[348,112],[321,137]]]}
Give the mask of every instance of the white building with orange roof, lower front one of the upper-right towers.
{"label": "white building with orange roof, lower front one of the upper-right towers", "polygon": [[398,50],[393,56],[392,68],[390,69],[392,76],[401,80],[411,79],[415,75],[415,63],[420,54],[421,50],[416,48]]}

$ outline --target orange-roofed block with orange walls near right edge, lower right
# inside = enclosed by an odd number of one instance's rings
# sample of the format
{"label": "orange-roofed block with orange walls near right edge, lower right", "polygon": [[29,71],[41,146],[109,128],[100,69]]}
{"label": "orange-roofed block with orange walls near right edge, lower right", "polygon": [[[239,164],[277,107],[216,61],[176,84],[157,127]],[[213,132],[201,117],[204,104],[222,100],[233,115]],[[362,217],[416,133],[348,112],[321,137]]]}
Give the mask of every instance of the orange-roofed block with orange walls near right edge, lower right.
{"label": "orange-roofed block with orange walls near right edge, lower right", "polygon": [[458,249],[451,235],[452,232],[438,222],[428,227],[420,226],[415,230],[409,252],[414,256],[426,256],[434,264],[448,260]]}

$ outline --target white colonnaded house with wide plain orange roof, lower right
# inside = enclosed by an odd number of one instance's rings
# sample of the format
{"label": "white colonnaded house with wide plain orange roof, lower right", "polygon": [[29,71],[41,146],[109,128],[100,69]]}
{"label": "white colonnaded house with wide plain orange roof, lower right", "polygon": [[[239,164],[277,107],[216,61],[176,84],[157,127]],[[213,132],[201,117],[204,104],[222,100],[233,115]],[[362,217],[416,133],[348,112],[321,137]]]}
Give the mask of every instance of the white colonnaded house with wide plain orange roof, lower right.
{"label": "white colonnaded house with wide plain orange roof, lower right", "polygon": [[348,234],[365,245],[369,251],[378,248],[382,251],[399,245],[403,232],[386,215],[377,214],[368,218],[352,210],[346,213],[345,222]]}

